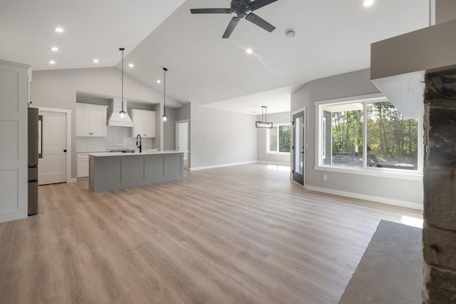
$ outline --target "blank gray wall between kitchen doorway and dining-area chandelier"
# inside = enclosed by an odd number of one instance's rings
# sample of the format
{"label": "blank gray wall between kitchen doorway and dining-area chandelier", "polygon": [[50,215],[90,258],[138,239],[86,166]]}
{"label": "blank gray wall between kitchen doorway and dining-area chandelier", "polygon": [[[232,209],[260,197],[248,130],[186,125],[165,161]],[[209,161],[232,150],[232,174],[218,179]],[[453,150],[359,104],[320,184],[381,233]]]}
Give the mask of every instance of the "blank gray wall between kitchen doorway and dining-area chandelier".
{"label": "blank gray wall between kitchen doorway and dining-area chandelier", "polygon": [[257,161],[257,116],[191,108],[191,170]]}

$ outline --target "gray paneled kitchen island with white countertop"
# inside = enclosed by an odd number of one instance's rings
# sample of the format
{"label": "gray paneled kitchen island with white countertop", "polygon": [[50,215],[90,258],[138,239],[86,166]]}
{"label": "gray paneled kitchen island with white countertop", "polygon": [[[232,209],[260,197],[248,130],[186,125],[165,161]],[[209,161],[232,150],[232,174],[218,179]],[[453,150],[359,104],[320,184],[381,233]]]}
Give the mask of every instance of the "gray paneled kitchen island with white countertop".
{"label": "gray paneled kitchen island with white countertop", "polygon": [[93,192],[175,181],[183,178],[183,153],[105,152],[89,154],[89,183]]}

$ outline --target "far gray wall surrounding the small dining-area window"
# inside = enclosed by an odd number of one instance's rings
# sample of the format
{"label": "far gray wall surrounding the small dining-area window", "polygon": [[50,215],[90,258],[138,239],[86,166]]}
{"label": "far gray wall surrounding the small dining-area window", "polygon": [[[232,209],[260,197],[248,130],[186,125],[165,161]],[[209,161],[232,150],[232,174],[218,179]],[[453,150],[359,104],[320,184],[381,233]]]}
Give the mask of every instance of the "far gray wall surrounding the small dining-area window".
{"label": "far gray wall surrounding the small dining-area window", "polygon": [[[257,116],[257,121],[259,120],[261,120],[261,115]],[[271,121],[272,123],[290,123],[291,114],[290,112],[268,114],[267,121]],[[289,166],[291,160],[289,153],[266,153],[266,133],[266,128],[257,128],[258,161],[267,163],[281,163],[284,164],[284,166]]]}

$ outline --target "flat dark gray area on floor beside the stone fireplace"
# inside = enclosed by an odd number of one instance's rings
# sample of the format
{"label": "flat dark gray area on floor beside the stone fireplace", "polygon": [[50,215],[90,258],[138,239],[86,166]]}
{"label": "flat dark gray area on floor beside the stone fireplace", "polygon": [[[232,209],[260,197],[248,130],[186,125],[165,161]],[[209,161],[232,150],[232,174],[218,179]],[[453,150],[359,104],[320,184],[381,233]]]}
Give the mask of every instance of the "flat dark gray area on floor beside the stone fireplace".
{"label": "flat dark gray area on floor beside the stone fireplace", "polygon": [[421,230],[380,221],[339,304],[422,303]]}

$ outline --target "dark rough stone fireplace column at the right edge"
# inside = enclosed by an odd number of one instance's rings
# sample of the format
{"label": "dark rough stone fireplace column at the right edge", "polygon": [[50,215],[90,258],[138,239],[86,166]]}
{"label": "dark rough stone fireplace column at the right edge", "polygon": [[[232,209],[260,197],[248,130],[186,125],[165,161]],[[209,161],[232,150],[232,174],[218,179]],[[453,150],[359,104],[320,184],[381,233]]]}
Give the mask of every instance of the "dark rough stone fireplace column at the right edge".
{"label": "dark rough stone fireplace column at the right edge", "polygon": [[456,303],[456,70],[425,85],[423,303]]}

